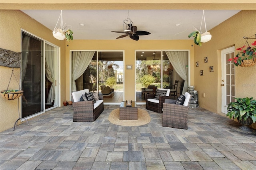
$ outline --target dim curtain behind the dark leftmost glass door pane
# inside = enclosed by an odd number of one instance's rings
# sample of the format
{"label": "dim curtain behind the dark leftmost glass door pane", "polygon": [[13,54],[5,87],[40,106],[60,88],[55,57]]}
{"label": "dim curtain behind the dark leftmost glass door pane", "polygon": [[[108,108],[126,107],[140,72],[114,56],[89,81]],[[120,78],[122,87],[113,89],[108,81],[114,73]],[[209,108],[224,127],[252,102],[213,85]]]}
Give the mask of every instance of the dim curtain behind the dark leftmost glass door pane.
{"label": "dim curtain behind the dark leftmost glass door pane", "polygon": [[21,80],[24,80],[26,69],[28,65],[28,54],[29,54],[29,45],[30,45],[30,36],[26,34],[22,34],[22,42],[21,42]]}

